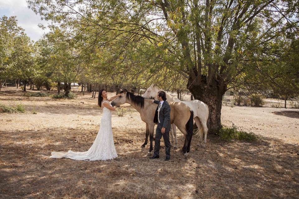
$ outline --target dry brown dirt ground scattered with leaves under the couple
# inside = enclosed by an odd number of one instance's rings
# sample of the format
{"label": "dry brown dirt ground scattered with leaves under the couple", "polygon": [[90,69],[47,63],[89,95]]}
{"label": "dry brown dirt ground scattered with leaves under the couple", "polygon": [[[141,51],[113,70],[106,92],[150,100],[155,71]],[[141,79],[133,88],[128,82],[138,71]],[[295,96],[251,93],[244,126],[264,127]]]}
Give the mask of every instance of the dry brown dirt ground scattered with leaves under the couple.
{"label": "dry brown dirt ground scattered with leaves under the couple", "polygon": [[[123,117],[112,115],[118,158],[47,158],[51,151],[86,151],[97,135],[97,99],[74,92],[77,98],[68,100],[1,89],[0,104],[24,104],[26,113],[0,113],[0,198],[299,198],[296,109],[223,106],[225,125],[262,137],[228,142],[209,134],[205,149],[193,138],[187,159],[172,149],[165,162],[163,140],[160,159],[148,158],[149,146],[140,148],[145,124],[124,104]],[[183,141],[178,131],[179,147]]]}

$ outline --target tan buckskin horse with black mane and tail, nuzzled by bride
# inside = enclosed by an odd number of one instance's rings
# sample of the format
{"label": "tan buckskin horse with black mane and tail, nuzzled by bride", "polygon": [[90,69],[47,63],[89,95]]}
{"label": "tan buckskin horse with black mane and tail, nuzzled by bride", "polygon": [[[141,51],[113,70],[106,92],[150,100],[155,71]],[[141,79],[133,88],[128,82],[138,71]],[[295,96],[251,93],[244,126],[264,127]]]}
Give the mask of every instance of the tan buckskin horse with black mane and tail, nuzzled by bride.
{"label": "tan buckskin horse with black mane and tail, nuzzled by bride", "polygon": [[[150,150],[148,152],[150,155],[153,150],[155,127],[154,116],[157,104],[154,104],[152,99],[145,99],[139,95],[134,95],[126,89],[122,90],[120,94],[120,96],[112,100],[111,105],[119,106],[121,104],[128,103],[140,113],[141,120],[146,123],[145,142],[142,146],[145,147],[150,135]],[[187,105],[180,102],[169,102],[169,106],[170,123],[174,123],[185,136],[185,143],[181,151],[186,156],[190,151],[190,144],[193,135],[193,112]]]}

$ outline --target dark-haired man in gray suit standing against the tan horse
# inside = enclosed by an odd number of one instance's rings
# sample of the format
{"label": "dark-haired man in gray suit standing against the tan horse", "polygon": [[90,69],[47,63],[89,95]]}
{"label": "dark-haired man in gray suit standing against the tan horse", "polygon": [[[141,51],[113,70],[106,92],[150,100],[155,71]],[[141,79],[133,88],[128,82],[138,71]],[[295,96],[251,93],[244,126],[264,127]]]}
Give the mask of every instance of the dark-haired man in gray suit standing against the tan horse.
{"label": "dark-haired man in gray suit standing against the tan horse", "polygon": [[159,158],[160,152],[160,139],[163,136],[165,144],[165,161],[170,160],[170,141],[169,141],[169,131],[170,131],[170,106],[166,101],[166,93],[164,91],[159,91],[157,95],[158,100],[154,100],[153,103],[159,104],[154,117],[154,123],[158,123],[156,129],[155,138],[155,148],[154,155],[150,159]]}

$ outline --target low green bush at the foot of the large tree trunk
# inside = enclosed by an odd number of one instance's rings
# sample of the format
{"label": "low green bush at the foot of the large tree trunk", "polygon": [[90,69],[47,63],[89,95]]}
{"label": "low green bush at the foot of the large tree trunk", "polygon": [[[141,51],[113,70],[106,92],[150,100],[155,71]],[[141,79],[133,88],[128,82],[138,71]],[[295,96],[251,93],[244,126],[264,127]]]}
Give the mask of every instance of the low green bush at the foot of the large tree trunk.
{"label": "low green bush at the foot of the large tree trunk", "polygon": [[218,135],[225,140],[244,140],[244,141],[254,141],[258,139],[258,135],[253,132],[245,132],[242,129],[233,124],[232,127],[222,126],[218,132]]}

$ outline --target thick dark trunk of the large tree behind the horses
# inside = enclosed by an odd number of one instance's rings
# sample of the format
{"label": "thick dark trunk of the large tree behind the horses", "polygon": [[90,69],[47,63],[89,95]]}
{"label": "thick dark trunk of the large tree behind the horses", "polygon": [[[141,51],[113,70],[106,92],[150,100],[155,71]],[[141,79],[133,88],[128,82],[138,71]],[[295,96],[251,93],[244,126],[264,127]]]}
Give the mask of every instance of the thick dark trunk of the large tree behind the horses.
{"label": "thick dark trunk of the large tree behind the horses", "polygon": [[187,87],[191,91],[194,99],[199,99],[208,105],[209,117],[207,126],[209,133],[218,133],[221,128],[221,106],[222,96],[227,89],[224,81],[211,80],[207,86],[206,77],[202,76],[201,82],[193,83],[189,79]]}

